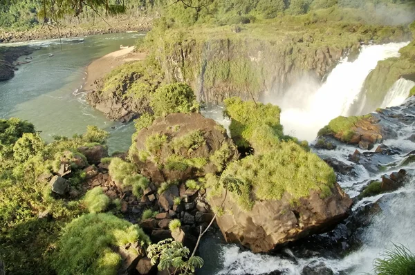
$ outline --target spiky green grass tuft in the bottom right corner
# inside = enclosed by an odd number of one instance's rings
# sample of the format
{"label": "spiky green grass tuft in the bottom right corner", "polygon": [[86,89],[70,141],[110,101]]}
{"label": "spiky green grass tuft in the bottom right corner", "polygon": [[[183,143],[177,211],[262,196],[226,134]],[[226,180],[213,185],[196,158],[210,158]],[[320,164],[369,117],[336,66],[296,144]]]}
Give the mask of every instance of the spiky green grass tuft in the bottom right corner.
{"label": "spiky green grass tuft in the bottom right corner", "polygon": [[387,249],[381,258],[374,262],[376,275],[415,274],[415,255],[403,245],[394,245]]}

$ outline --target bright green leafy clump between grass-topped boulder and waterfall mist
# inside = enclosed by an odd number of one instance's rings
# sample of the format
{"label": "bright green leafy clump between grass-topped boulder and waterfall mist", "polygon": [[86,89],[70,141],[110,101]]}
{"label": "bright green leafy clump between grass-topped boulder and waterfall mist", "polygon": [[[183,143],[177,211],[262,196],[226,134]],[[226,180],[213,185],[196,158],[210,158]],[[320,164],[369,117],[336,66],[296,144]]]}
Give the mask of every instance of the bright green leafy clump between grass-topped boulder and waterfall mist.
{"label": "bright green leafy clump between grass-topped boulder and waterfall mist", "polygon": [[281,109],[272,104],[261,104],[252,101],[243,102],[238,97],[225,99],[225,115],[231,118],[229,126],[232,140],[237,146],[249,148],[249,140],[259,126],[267,125],[274,135],[282,136],[279,124]]}

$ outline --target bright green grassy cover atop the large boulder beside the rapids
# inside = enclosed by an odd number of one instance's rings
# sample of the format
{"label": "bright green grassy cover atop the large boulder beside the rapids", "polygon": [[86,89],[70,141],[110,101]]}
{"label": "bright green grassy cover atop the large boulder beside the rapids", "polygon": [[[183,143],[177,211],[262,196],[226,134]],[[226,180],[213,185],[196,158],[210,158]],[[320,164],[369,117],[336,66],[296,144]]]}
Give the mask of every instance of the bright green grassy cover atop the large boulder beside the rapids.
{"label": "bright green grassy cover atop the large boulder beside the rapids", "polygon": [[335,173],[329,165],[293,141],[278,147],[232,162],[223,172],[221,180],[240,182],[241,194],[232,192],[232,197],[242,209],[252,209],[255,200],[281,200],[284,193],[291,200],[309,196],[311,190],[320,191],[322,197],[331,194]]}

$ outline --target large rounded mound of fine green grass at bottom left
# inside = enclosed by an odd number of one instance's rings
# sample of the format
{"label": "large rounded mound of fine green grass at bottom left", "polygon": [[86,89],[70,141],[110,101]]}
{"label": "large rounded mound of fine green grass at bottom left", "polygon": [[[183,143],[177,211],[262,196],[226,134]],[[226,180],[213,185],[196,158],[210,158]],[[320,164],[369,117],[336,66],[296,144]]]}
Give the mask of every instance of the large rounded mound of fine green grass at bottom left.
{"label": "large rounded mound of fine green grass at bottom left", "polygon": [[[137,225],[111,214],[86,214],[62,231],[53,255],[57,274],[117,274],[121,256],[113,247],[147,246],[149,237]],[[137,251],[130,253],[137,254]]]}

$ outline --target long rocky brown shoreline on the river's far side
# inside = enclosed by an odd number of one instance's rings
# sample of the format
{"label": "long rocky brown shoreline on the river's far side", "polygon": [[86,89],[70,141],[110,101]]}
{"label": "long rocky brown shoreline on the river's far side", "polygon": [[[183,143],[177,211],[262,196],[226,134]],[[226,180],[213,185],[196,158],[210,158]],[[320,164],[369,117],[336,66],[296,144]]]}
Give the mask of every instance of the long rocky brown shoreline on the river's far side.
{"label": "long rocky brown shoreline on the river's far side", "polygon": [[136,20],[110,19],[96,24],[39,26],[24,31],[2,30],[0,28],[0,43],[32,41],[38,39],[57,39],[83,37],[89,35],[104,35],[117,32],[144,32],[151,30],[152,18],[140,17]]}

